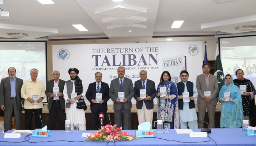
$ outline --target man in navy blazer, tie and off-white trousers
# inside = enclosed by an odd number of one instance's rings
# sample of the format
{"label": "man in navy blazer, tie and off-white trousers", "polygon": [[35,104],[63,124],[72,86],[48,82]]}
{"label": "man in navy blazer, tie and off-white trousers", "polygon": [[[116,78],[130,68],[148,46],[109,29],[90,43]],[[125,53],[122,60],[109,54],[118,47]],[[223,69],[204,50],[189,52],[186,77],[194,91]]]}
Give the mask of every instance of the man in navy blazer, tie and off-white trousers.
{"label": "man in navy blazer, tie and off-white trousers", "polygon": [[[155,82],[147,79],[147,71],[140,70],[140,79],[134,83],[134,98],[136,99],[136,108],[138,114],[139,124],[143,122],[150,122],[152,129],[153,112],[154,112],[154,98],[157,96],[155,90]],[[146,98],[142,98],[140,89],[146,89]]]}

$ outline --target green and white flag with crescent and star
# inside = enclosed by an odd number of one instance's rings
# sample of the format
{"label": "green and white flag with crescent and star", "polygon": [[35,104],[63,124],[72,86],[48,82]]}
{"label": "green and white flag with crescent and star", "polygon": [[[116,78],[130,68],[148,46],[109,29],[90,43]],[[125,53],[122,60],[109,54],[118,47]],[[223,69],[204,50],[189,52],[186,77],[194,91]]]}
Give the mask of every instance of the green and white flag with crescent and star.
{"label": "green and white flag with crescent and star", "polygon": [[[221,56],[219,55],[219,44],[217,43],[216,47],[216,53],[215,53],[215,63],[214,63],[214,76],[217,76],[218,85],[219,85],[219,91],[221,90],[221,87],[224,85],[224,74],[223,74],[223,68],[221,64]],[[219,93],[217,94],[217,97],[219,97]]]}

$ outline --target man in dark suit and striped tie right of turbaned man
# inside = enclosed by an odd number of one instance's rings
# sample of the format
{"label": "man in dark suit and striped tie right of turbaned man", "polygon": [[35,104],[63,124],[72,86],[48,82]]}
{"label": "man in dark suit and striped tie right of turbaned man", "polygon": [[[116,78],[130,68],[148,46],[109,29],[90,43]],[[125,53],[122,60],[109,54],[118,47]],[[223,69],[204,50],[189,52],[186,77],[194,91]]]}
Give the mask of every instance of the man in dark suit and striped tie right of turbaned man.
{"label": "man in dark suit and striped tie right of turbaned man", "polygon": [[[99,113],[102,112],[104,115],[104,120],[102,126],[106,125],[106,114],[108,110],[107,101],[109,100],[109,84],[102,82],[102,73],[96,72],[94,74],[96,82],[89,84],[86,92],[86,98],[91,103],[91,117],[93,122],[93,130],[98,130],[99,128]],[[96,93],[97,99],[96,99]]]}

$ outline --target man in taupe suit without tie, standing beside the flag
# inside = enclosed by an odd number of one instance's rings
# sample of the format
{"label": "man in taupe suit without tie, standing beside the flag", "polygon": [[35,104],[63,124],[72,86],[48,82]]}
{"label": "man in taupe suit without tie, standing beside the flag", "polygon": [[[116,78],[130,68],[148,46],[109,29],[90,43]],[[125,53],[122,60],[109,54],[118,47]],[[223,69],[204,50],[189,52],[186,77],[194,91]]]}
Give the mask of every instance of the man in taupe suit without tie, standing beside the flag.
{"label": "man in taupe suit without tie, standing beside the flag", "polygon": [[[197,108],[198,108],[198,128],[204,127],[204,116],[206,108],[209,117],[210,128],[215,127],[215,108],[217,104],[216,95],[219,91],[217,77],[210,74],[211,65],[203,64],[203,74],[196,77],[196,89],[198,91]],[[200,120],[203,119],[203,120]]]}

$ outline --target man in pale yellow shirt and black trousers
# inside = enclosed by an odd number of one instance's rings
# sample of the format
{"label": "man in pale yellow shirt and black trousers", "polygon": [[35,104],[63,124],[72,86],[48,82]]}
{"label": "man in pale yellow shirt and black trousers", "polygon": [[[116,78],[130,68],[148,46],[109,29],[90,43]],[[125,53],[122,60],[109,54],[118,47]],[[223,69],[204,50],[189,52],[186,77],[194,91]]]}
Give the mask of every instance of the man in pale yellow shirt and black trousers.
{"label": "man in pale yellow shirt and black trousers", "polygon": [[21,87],[21,96],[25,99],[25,129],[32,130],[31,122],[35,113],[35,128],[42,128],[42,100],[45,97],[45,87],[41,80],[37,79],[38,70],[30,70],[31,78],[26,80]]}

